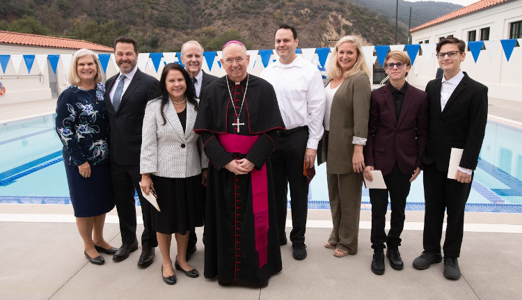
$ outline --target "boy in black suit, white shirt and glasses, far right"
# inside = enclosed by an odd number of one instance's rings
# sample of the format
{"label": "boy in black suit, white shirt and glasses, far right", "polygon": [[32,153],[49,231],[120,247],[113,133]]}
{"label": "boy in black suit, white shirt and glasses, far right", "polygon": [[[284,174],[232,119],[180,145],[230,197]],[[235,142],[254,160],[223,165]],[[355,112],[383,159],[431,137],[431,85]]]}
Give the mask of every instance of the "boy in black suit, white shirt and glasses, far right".
{"label": "boy in black suit, white shirt and glasses, far right", "polygon": [[[424,163],[425,219],[422,254],[413,261],[416,269],[441,262],[444,211],[448,212],[444,251],[444,276],[459,279],[457,258],[464,229],[464,207],[473,170],[478,162],[487,123],[487,86],[460,70],[466,58],[465,43],[445,38],[438,43],[438,63],[444,76],[426,86],[429,132]],[[451,148],[464,149],[459,170],[448,179]]]}

